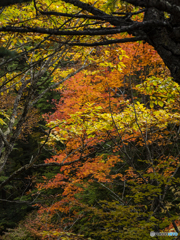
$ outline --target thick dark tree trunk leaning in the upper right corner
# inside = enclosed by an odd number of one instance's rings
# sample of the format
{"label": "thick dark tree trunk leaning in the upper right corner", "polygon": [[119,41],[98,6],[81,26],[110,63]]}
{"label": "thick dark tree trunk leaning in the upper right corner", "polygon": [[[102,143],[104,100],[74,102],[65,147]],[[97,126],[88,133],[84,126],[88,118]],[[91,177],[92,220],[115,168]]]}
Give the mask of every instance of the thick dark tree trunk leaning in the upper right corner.
{"label": "thick dark tree trunk leaning in the upper right corner", "polygon": [[[143,32],[147,36],[146,41],[155,48],[169,68],[173,80],[180,84],[180,11],[178,8],[180,0],[127,0],[126,2],[146,8],[144,22],[153,20],[166,24],[164,27],[152,25],[143,29]],[[167,12],[169,12],[169,18]],[[133,31],[131,34],[139,35],[134,34]]]}

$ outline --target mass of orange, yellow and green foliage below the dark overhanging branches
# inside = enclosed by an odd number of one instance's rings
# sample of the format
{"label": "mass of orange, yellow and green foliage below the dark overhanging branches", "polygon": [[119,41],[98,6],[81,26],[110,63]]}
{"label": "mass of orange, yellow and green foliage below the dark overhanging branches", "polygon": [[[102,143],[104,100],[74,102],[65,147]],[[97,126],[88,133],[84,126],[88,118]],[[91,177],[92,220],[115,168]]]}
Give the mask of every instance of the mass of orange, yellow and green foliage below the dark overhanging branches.
{"label": "mass of orange, yellow and green foliage below the dark overhanging branches", "polygon": [[45,163],[63,166],[37,183],[44,203],[26,226],[42,239],[149,239],[178,226],[180,88],[143,42],[88,60],[44,115],[57,153]]}

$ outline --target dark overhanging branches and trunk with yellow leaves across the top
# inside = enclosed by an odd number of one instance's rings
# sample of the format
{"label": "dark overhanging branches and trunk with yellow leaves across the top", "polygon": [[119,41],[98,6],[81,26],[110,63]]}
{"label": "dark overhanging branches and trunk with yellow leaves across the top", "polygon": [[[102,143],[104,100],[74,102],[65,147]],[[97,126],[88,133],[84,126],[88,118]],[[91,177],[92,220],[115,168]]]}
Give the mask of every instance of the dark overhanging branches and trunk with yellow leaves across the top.
{"label": "dark overhanging branches and trunk with yellow leaves across the top", "polygon": [[[6,1],[1,6],[17,2],[22,1]],[[23,20],[16,18],[13,24],[1,24],[0,32],[48,34],[49,41],[71,46],[143,40],[156,49],[174,81],[179,82],[180,4],[176,0],[34,0],[28,11]],[[51,24],[47,24],[47,19],[51,19]],[[116,38],[119,33],[131,37]]]}

